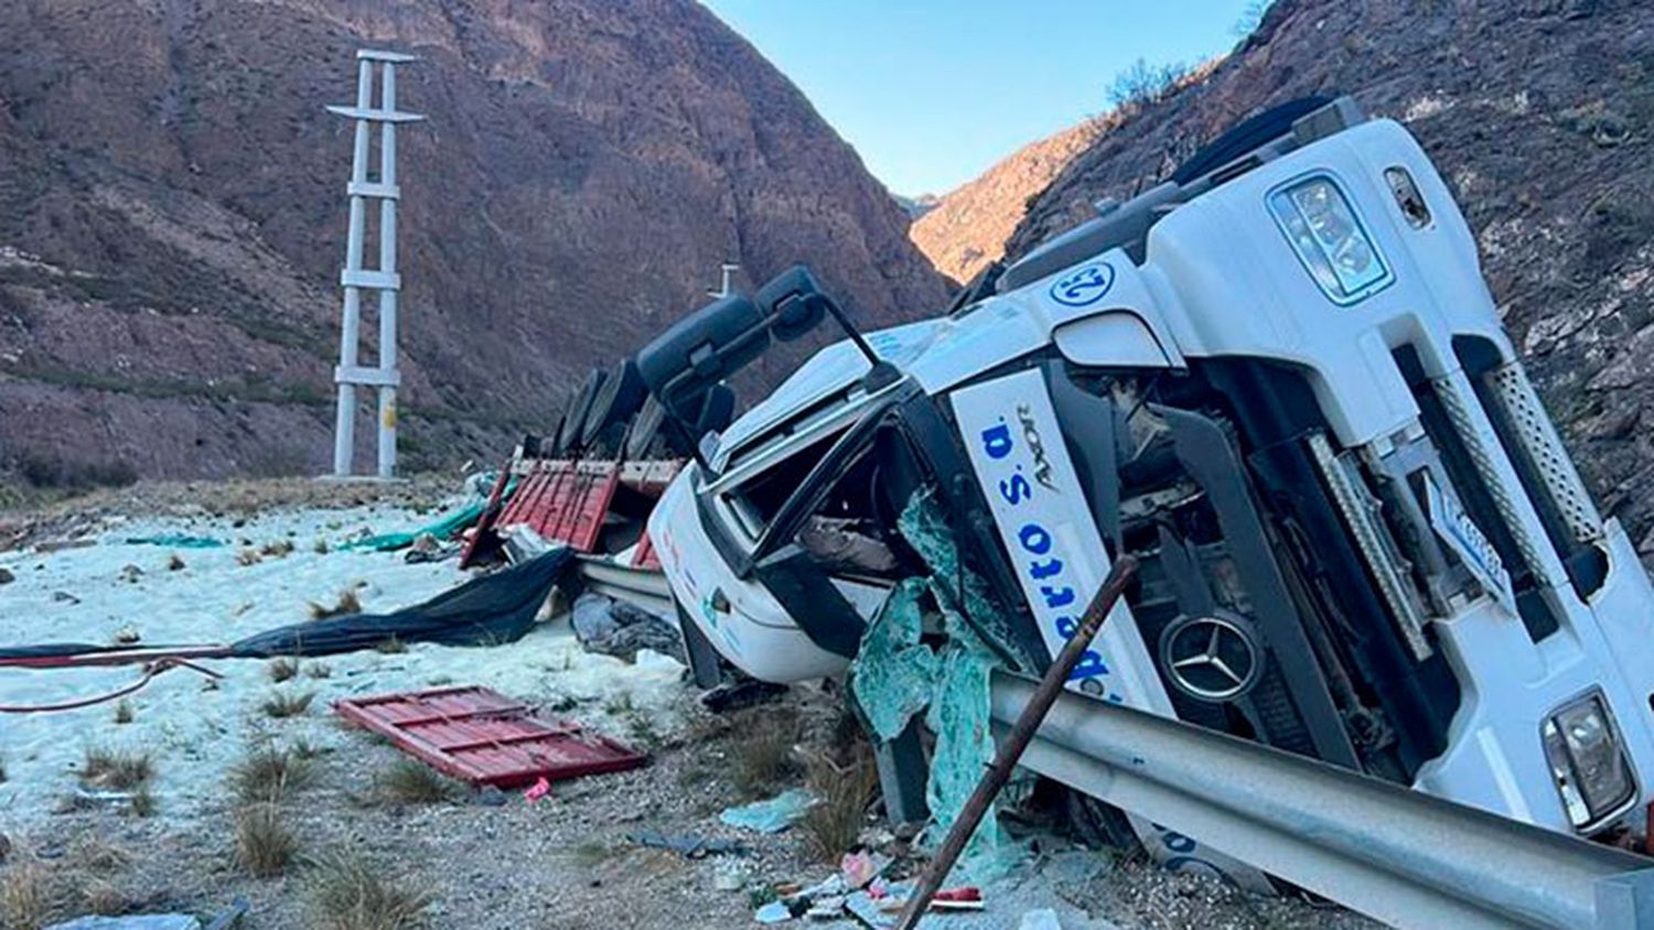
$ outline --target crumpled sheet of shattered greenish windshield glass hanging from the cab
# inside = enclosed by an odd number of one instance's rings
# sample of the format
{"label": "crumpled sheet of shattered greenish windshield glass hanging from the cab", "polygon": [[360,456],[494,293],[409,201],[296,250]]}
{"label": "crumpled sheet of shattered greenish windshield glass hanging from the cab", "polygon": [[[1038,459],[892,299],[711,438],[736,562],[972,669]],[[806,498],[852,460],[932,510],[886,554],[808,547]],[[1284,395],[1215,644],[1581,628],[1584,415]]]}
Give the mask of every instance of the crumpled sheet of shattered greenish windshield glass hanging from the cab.
{"label": "crumpled sheet of shattered greenish windshield glass hanging from the cab", "polygon": [[[953,534],[928,491],[908,501],[898,525],[931,575],[903,580],[885,601],[862,636],[850,687],[882,742],[900,737],[925,712],[936,743],[925,785],[931,826],[923,842],[935,847],[994,758],[989,676],[1012,664],[1004,656],[1017,651],[1006,618],[986,596],[986,583],[959,560]],[[939,634],[931,636],[935,646],[925,641],[926,618],[931,633]],[[1002,648],[989,646],[984,631],[1001,634]],[[1012,795],[1025,786],[1027,780],[1012,785]],[[989,882],[1024,857],[1022,846],[999,828],[996,806],[966,844],[956,874]]]}

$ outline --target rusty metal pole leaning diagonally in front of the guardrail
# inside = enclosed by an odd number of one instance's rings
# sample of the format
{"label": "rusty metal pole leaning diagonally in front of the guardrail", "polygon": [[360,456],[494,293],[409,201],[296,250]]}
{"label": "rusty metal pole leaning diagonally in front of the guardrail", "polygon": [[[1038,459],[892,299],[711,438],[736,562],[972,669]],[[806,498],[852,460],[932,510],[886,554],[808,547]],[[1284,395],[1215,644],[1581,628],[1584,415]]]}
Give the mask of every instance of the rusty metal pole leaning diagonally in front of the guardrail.
{"label": "rusty metal pole leaning diagonally in front of the guardrail", "polygon": [[943,839],[941,847],[936,851],[936,857],[931,859],[928,869],[925,869],[925,877],[920,885],[913,890],[913,897],[908,899],[906,907],[901,909],[901,918],[896,920],[896,930],[913,930],[925,915],[925,909],[930,907],[936,890],[948,879],[948,872],[953,871],[953,864],[964,852],[964,844],[976,833],[976,824],[982,823],[982,814],[987,813],[987,806],[994,803],[999,791],[1004,790],[1006,781],[1011,780],[1011,771],[1017,766],[1017,760],[1022,758],[1022,750],[1029,747],[1034,733],[1039,730],[1040,722],[1045,720],[1045,714],[1050,712],[1050,705],[1057,702],[1057,695],[1062,694],[1062,686],[1068,682],[1068,676],[1073,667],[1080,664],[1080,656],[1092,644],[1092,638],[1097,631],[1103,628],[1103,621],[1108,619],[1108,611],[1115,610],[1115,601],[1125,593],[1126,585],[1136,577],[1138,562],[1133,555],[1121,555],[1115,567],[1108,572],[1108,578],[1103,580],[1103,586],[1097,590],[1097,596],[1092,598],[1090,606],[1085,608],[1085,616],[1080,618],[1080,629],[1073,633],[1073,638],[1062,648],[1057,654],[1057,661],[1050,664],[1045,677],[1040,679],[1039,687],[1034,690],[1034,697],[1029,699],[1027,707],[1022,715],[1017,717],[1016,725],[1006,733],[1006,740],[999,745],[999,752],[994,753],[992,765],[982,773],[982,780],[976,783],[976,790],[971,791],[971,798],[964,801],[964,808],[959,809],[959,819],[953,823],[953,829],[948,831],[946,839]]}

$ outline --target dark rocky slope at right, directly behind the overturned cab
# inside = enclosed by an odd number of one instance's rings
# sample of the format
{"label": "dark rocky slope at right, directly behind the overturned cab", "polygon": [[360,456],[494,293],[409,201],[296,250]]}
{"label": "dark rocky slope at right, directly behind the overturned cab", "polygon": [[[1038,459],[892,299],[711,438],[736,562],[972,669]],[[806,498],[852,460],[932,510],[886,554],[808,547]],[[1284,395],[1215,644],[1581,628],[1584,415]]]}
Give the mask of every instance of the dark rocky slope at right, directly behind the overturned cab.
{"label": "dark rocky slope at right, directly behind the overturned cab", "polygon": [[1649,3],[1279,0],[1204,79],[1075,157],[1006,251],[1075,225],[1100,197],[1130,197],[1260,107],[1338,91],[1429,150],[1599,502],[1654,552]]}

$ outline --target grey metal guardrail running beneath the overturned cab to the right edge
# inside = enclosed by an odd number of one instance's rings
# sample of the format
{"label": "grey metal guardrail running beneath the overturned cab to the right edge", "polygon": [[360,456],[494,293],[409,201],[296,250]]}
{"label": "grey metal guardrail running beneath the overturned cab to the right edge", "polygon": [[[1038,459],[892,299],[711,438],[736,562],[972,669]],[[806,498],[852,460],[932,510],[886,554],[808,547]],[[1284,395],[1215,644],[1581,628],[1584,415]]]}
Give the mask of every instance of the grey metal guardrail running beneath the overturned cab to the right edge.
{"label": "grey metal guardrail running beneath the overturned cab to the right edge", "polygon": [[[996,737],[1035,682],[999,672]],[[1404,928],[1654,928],[1654,859],[1065,692],[1022,766]]]}

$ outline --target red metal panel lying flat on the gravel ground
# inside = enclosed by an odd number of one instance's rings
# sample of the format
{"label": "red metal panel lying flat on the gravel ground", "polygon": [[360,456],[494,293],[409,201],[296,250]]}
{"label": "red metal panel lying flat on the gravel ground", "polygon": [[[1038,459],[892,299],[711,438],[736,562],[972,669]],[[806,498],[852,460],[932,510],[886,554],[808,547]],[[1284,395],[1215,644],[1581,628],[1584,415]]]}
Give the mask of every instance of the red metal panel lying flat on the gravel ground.
{"label": "red metal panel lying flat on the gravel ground", "polygon": [[339,700],[334,710],[432,768],[470,781],[514,788],[637,768],[647,758],[569,720],[486,687],[438,687]]}

